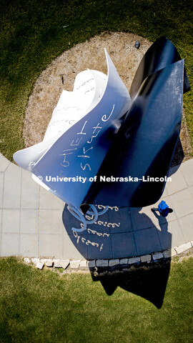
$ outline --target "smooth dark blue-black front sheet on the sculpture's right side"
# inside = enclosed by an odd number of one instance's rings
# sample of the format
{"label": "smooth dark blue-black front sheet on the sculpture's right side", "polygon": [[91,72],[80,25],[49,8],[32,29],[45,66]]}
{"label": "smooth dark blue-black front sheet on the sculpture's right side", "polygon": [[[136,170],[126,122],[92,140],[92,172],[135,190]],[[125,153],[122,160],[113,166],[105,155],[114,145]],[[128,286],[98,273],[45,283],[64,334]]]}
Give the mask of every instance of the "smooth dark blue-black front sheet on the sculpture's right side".
{"label": "smooth dark blue-black front sheet on the sculpture's right side", "polygon": [[147,77],[84,202],[144,207],[162,196],[164,182],[101,182],[106,177],[167,177],[182,120],[184,61]]}

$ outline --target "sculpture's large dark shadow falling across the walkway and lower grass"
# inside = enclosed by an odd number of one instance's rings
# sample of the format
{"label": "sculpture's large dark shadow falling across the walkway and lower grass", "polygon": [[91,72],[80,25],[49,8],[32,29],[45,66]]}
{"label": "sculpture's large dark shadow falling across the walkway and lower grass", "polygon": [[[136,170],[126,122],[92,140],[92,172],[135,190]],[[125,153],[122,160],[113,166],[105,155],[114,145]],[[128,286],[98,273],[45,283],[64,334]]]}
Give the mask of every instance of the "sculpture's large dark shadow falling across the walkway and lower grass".
{"label": "sculpture's large dark shadow falling across the walkway and lower grass", "polygon": [[[153,218],[151,219],[144,213],[140,214],[140,210],[140,208],[132,209],[132,215],[126,208],[119,209],[117,212],[109,210],[98,217],[97,222],[87,225],[87,229],[84,232],[72,233],[71,227],[80,227],[80,222],[74,216],[69,215],[67,208],[64,207],[63,222],[71,241],[85,259],[112,259],[134,256],[134,254],[127,255],[129,250],[125,249],[126,247],[131,247],[129,244],[132,237],[134,237],[135,244],[136,242],[139,244],[141,251],[144,248],[144,254],[160,251],[160,249],[154,250],[152,239],[154,235],[158,235],[160,247],[161,242],[167,242],[167,249],[171,248],[172,234],[168,232],[167,219],[160,217],[154,212],[158,220],[157,224],[156,222],[154,224],[152,222]],[[126,217],[126,214],[128,217]],[[88,217],[92,219],[92,216],[89,215]],[[108,223],[111,224],[109,227],[107,226]],[[112,224],[115,223],[117,225],[120,224],[119,227],[112,227]],[[138,223],[138,225],[134,223]],[[132,227],[130,227],[131,224]],[[145,227],[148,229],[146,230]],[[94,235],[93,232],[95,232]],[[109,236],[107,237],[107,235]],[[93,237],[95,237],[95,244],[98,244],[98,246],[94,245]],[[87,241],[89,241],[88,245],[85,244]],[[107,251],[105,251],[104,242],[108,242]],[[100,250],[100,247],[103,247],[103,249]],[[168,257],[167,259],[159,259],[155,262],[146,262],[144,264],[123,264],[112,269],[95,267],[90,268],[90,272],[93,281],[101,282],[108,295],[112,295],[117,287],[122,287],[127,292],[137,294],[152,302],[157,308],[161,308],[169,277],[170,262],[171,257]]]}

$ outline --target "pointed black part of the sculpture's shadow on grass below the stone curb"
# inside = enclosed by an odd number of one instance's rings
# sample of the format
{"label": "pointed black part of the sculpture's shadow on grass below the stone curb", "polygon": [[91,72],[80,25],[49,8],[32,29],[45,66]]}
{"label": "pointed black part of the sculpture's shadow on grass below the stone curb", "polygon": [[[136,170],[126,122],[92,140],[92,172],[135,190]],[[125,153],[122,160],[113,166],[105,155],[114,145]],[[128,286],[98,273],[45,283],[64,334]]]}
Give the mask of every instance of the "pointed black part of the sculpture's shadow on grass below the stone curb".
{"label": "pointed black part of the sculpture's shadow on grass below the stone curb", "polygon": [[112,295],[117,287],[152,302],[158,309],[162,307],[170,270],[170,258],[162,262],[134,265],[117,271],[104,271],[96,275],[91,272],[94,282],[101,282],[105,292]]}

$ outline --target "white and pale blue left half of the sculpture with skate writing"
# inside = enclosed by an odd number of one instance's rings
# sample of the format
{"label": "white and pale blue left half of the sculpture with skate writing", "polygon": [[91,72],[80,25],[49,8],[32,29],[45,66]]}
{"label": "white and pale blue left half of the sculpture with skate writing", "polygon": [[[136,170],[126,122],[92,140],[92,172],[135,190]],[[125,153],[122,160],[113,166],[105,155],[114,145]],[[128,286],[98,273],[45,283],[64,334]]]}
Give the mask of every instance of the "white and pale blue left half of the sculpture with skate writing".
{"label": "white and pale blue left half of the sculpture with skate writing", "polygon": [[[74,91],[62,92],[44,140],[14,154],[37,182],[74,207],[89,192],[89,179],[97,174],[131,101],[107,51],[106,57],[108,77],[93,70],[76,76]],[[46,181],[49,176],[53,181]]]}

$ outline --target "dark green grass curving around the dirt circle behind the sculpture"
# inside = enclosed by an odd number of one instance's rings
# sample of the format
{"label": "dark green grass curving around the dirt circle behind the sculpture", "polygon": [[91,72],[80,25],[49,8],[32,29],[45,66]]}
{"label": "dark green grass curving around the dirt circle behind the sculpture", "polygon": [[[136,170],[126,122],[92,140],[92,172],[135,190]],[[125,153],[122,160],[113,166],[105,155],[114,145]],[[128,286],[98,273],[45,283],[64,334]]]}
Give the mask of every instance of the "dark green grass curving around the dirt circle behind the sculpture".
{"label": "dark green grass curving around the dirt circle behind the sculpture", "polygon": [[[0,13],[0,151],[8,159],[24,148],[24,113],[41,71],[62,51],[103,31],[151,41],[167,36],[185,59],[192,85],[192,0],[1,0]],[[190,91],[184,108],[193,147],[192,107]]]}

